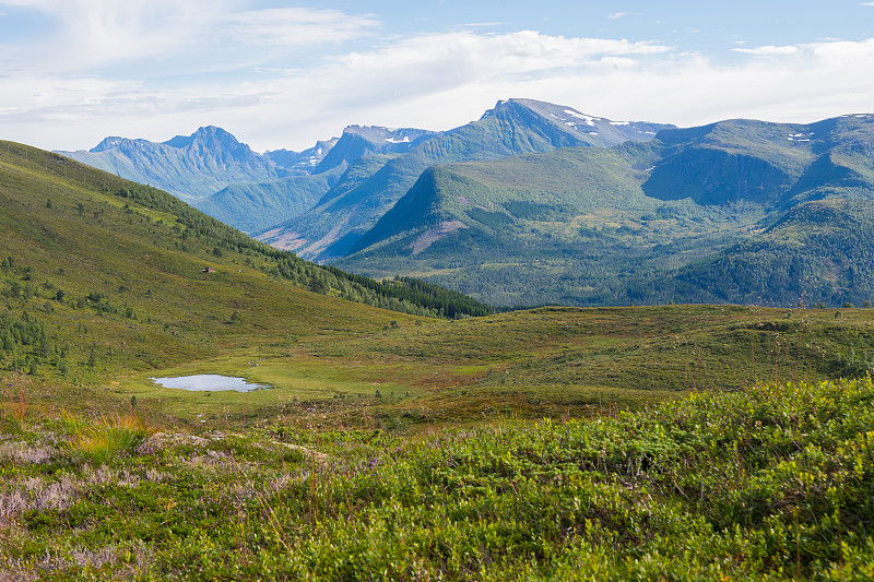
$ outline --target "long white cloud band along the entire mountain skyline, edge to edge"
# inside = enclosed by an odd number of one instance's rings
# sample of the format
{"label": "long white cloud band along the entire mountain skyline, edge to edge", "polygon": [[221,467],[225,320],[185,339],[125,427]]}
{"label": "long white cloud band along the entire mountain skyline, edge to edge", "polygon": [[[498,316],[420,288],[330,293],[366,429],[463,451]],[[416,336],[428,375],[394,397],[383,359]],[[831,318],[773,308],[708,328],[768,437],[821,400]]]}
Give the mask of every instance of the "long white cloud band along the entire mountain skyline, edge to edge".
{"label": "long white cloud band along the entire mountain skyline, edge to edge", "polygon": [[[63,4],[61,0],[37,1]],[[203,5],[214,2],[203,1]],[[123,55],[118,67],[101,69],[106,61],[99,56],[80,61],[72,49],[62,50],[60,40],[54,52],[7,60],[0,135],[72,150],[91,147],[108,134],[161,141],[212,123],[257,150],[302,150],[317,139],[339,134],[350,123],[450,129],[508,97],[550,100],[612,119],[681,126],[728,117],[812,121],[870,110],[874,103],[874,78],[858,74],[874,70],[874,40],[752,47],[722,63],[658,43],[569,38],[533,31],[359,37],[378,26],[374,19],[318,10],[282,11],[275,23],[268,23],[263,14],[235,13],[225,5],[204,8],[206,16],[193,28],[186,28],[190,20],[179,24],[191,32],[190,37],[156,48],[150,41],[164,33],[146,29],[135,20],[144,0],[131,2],[131,7],[110,10],[115,11],[111,17],[62,20],[68,23],[63,38],[73,34],[69,31],[76,22],[96,23],[88,25],[87,34],[115,22],[128,34],[142,35],[131,39],[135,50],[119,49]],[[190,19],[187,9],[174,12],[168,0],[150,3],[163,7],[164,19],[168,14]],[[305,15],[312,17],[308,21]],[[220,52],[224,45],[215,38],[216,29],[222,29],[216,23],[226,27],[228,22],[239,36],[237,44]],[[333,29],[336,37],[347,35],[344,38],[367,43],[355,45],[354,52],[322,43],[333,52],[307,52],[302,59],[297,55],[310,48],[287,37],[297,25],[306,34]],[[330,35],[310,37],[327,40]],[[241,49],[244,43],[255,41],[270,46]],[[236,52],[244,54],[239,61],[233,61]],[[282,58],[264,57],[276,54]],[[175,75],[172,84],[143,74],[149,62],[165,57],[158,70]],[[198,74],[189,78],[175,68],[184,60]]]}

